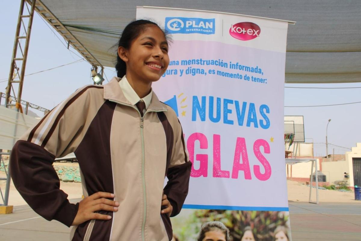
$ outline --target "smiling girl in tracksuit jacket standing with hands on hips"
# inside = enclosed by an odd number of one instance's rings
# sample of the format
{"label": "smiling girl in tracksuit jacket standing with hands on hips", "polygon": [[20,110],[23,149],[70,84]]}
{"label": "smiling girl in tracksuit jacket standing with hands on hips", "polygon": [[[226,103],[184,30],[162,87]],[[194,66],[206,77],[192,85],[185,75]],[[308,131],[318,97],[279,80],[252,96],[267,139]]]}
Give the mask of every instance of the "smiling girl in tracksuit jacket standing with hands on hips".
{"label": "smiling girl in tracksuit jacket standing with hands on hips", "polygon": [[[171,240],[169,216],[181,211],[191,162],[175,112],[151,89],[168,67],[168,41],[156,23],[138,20],[117,53],[118,77],[78,89],[17,141],[12,178],[39,215],[74,226],[70,240]],[[52,167],[71,152],[85,196],[77,204]]]}

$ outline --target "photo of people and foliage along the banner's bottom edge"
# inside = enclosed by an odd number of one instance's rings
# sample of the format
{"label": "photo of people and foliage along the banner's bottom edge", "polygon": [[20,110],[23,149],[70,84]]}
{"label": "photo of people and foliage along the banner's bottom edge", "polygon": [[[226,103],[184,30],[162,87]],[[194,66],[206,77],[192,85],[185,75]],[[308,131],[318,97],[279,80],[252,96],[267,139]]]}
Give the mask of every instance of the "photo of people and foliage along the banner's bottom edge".
{"label": "photo of people and foliage along the banner's bottom edge", "polygon": [[183,210],[171,219],[175,241],[289,241],[288,212]]}

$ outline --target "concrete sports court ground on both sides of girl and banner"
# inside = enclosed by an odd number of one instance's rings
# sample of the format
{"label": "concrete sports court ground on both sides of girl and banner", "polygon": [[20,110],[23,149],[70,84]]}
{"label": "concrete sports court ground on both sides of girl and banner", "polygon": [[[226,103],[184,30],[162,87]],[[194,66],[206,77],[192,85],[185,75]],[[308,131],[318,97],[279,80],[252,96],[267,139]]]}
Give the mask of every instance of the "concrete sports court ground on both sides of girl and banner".
{"label": "concrete sports court ground on both sides of girl and banner", "polygon": [[[78,202],[79,199],[72,199]],[[289,202],[293,241],[360,241],[360,203]],[[70,229],[39,217],[27,205],[15,206],[12,214],[0,215],[1,241],[64,241]]]}

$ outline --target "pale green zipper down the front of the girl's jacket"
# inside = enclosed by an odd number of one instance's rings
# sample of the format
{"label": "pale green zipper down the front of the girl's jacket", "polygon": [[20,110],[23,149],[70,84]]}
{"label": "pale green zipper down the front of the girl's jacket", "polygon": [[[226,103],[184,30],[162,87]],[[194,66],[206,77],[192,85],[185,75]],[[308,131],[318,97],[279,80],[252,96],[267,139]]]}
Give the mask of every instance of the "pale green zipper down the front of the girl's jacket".
{"label": "pale green zipper down the front of the girl's jacket", "polygon": [[143,200],[144,200],[144,206],[143,206],[144,214],[143,214],[143,221],[142,221],[142,241],[145,241],[145,221],[147,220],[147,194],[146,194],[146,186],[145,186],[144,117],[145,117],[145,114],[147,114],[148,112],[163,112],[165,110],[145,111],[145,113],[142,117],[142,115],[140,114],[140,111],[132,105],[124,104],[122,102],[115,101],[115,100],[109,100],[109,101],[115,102],[119,105],[125,105],[125,106],[132,107],[133,109],[138,111],[138,114],[140,116],[140,140],[142,143],[142,186],[143,186]]}

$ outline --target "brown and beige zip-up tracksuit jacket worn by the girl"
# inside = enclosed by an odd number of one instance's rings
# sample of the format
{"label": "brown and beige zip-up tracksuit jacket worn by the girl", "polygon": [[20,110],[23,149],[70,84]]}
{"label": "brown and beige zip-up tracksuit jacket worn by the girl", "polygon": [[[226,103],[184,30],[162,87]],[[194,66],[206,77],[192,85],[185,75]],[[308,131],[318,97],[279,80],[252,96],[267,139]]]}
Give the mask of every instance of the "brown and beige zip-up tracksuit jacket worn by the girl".
{"label": "brown and beige zip-up tracksuit jacket worn by the girl", "polygon": [[45,115],[14,145],[10,172],[32,209],[70,226],[78,203],[70,203],[59,189],[52,163],[74,152],[84,196],[114,193],[120,205],[117,212],[99,211],[112,216],[110,220],[73,227],[70,240],[171,240],[169,216],[160,213],[161,199],[164,191],[175,216],[188,193],[191,162],[182,127],[173,109],[154,93],[141,117],[123,95],[119,80],[78,89]]}

